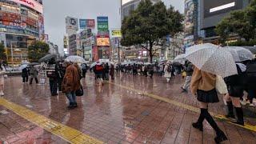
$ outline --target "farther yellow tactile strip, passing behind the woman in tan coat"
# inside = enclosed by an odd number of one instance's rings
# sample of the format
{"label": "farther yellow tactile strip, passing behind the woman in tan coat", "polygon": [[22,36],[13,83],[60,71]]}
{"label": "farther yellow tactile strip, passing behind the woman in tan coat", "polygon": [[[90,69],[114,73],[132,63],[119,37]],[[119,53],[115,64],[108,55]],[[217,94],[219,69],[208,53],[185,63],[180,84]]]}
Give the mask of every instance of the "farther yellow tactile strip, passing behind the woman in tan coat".
{"label": "farther yellow tactile strip, passing behind the woman in tan coat", "polygon": [[[200,113],[200,109],[198,109],[197,107],[190,106],[190,105],[186,105],[186,104],[184,104],[184,103],[182,103],[182,102],[176,102],[176,101],[171,100],[171,99],[169,99],[169,98],[160,97],[160,96],[158,96],[158,95],[156,95],[156,94],[145,93],[145,92],[142,91],[142,90],[136,90],[136,89],[134,89],[134,88],[132,88],[132,87],[122,86],[122,85],[119,85],[119,84],[114,83],[114,82],[108,82],[108,83],[110,83],[111,85],[114,85],[114,86],[122,87],[122,88],[124,88],[124,89],[126,89],[126,90],[132,90],[132,91],[134,91],[134,92],[137,92],[137,93],[139,93],[139,94],[143,94],[143,95],[148,96],[148,97],[150,97],[150,98],[158,99],[158,100],[160,100],[160,101],[162,101],[162,102],[170,103],[170,104],[172,104],[172,105],[174,105],[174,106],[180,106],[180,107],[182,107],[182,108],[184,108],[184,109],[186,109],[186,110],[191,110],[191,111],[194,111],[194,112],[196,112],[196,113]],[[230,120],[229,120],[228,118],[226,118],[224,115],[221,115],[221,114],[214,114],[214,113],[212,113],[212,112],[210,112],[210,114],[211,114],[211,115],[214,115],[214,118],[218,118],[218,119],[224,120],[224,121],[226,121],[226,122],[228,122],[228,123],[230,123],[230,124],[233,124],[233,125],[235,125],[235,126],[239,126],[239,127],[244,128],[244,129],[247,129],[247,130],[251,130],[251,131],[256,132],[256,126],[251,126],[251,125],[249,125],[249,124],[245,124],[245,126],[237,125],[237,124],[234,124],[234,123],[230,122]]]}

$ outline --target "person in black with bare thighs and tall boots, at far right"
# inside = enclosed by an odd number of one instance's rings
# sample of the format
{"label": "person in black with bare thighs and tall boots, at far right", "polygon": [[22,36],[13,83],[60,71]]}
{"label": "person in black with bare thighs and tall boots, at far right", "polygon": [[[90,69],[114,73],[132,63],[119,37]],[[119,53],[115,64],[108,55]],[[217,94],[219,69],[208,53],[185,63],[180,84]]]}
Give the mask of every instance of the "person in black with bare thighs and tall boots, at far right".
{"label": "person in black with bare thighs and tall boots, at far right", "polygon": [[237,121],[234,122],[238,125],[244,126],[243,111],[240,104],[240,98],[243,96],[243,91],[246,86],[246,65],[236,62],[238,74],[224,78],[229,94],[226,94],[225,100],[228,106],[227,118],[235,118],[233,108],[237,114]]}

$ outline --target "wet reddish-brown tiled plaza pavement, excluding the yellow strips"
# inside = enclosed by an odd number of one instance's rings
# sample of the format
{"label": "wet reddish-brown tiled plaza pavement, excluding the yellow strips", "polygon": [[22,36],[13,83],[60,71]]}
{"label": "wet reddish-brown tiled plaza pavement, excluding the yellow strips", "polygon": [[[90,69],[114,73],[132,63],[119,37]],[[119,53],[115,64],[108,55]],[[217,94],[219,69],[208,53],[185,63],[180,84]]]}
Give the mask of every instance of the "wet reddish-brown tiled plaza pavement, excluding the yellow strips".
{"label": "wet reddish-brown tiled plaza pavement, excluding the yellow strips", "polygon": [[[84,96],[78,97],[78,109],[67,110],[65,94],[50,96],[47,86],[22,84],[21,78],[6,80],[6,98],[46,118],[70,126],[92,138],[106,143],[214,143],[214,130],[205,122],[203,134],[191,128],[198,114],[182,106],[150,98],[159,95],[174,102],[197,107],[196,99],[182,94],[182,78],[170,84],[164,78],[154,79],[121,74],[115,84],[142,91],[140,94],[125,87],[105,83],[94,86],[94,78],[82,80]],[[0,106],[0,110],[6,110]],[[21,118],[10,110],[0,114],[0,140],[16,143],[65,143],[66,141]],[[210,111],[224,114],[223,104],[211,105]],[[254,120],[247,122],[256,125]],[[254,143],[256,133],[227,122],[218,122],[229,137],[226,143]]]}

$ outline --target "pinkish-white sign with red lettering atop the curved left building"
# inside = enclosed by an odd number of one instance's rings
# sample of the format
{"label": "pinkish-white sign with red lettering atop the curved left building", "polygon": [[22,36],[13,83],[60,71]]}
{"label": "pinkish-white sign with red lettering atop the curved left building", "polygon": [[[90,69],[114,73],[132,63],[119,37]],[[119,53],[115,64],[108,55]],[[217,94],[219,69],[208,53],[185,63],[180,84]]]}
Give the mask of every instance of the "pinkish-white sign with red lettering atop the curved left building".
{"label": "pinkish-white sign with red lettering atop the curved left building", "polygon": [[39,13],[42,14],[42,4],[36,2],[34,0],[10,0],[12,2],[16,2],[25,6],[29,6],[30,8],[37,10]]}

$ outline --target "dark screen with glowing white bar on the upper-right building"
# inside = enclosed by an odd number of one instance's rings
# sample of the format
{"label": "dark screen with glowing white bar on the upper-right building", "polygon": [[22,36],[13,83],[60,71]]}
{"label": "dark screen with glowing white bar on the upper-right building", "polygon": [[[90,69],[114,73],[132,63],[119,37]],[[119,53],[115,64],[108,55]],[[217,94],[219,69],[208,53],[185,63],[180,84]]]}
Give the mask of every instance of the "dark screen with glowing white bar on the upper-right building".
{"label": "dark screen with glowing white bar on the upper-right building", "polygon": [[242,0],[204,0],[204,18],[242,9]]}

